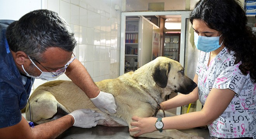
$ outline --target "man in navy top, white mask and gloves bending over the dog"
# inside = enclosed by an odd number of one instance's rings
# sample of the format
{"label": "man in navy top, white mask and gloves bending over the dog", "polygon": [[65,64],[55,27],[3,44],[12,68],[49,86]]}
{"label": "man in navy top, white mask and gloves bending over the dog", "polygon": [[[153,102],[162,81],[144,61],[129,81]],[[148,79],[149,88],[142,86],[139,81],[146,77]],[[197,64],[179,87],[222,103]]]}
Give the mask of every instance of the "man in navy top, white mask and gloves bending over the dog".
{"label": "man in navy top, white mask and gloves bending over the dog", "polygon": [[54,80],[65,73],[96,107],[116,112],[114,97],[101,92],[75,59],[75,46],[74,33],[55,12],[35,10],[18,21],[0,20],[1,139],[56,138],[71,126],[89,128],[102,119],[99,113],[80,109],[52,122],[29,127],[21,109],[28,102],[35,78]]}

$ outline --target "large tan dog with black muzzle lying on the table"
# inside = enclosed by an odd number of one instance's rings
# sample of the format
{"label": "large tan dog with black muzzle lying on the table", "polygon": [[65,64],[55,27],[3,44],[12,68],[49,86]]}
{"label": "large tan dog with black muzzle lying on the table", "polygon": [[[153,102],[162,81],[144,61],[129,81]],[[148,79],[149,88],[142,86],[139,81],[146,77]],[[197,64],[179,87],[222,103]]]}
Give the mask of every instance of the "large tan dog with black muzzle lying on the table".
{"label": "large tan dog with black muzzle lying on the table", "polygon": [[[166,95],[172,91],[188,94],[197,86],[184,75],[184,69],[177,61],[158,57],[135,72],[129,72],[116,79],[96,82],[100,90],[112,93],[118,107],[116,114],[103,113],[106,119],[99,125],[129,126],[132,116],[150,117]],[[153,97],[153,98],[152,98]],[[29,98],[32,121],[37,124],[49,122],[76,109],[96,108],[85,93],[72,81],[50,81],[38,86]],[[29,106],[26,106],[26,119]],[[130,132],[134,135],[136,132]],[[174,139],[198,139],[201,137],[185,134],[177,130],[155,131],[142,137]]]}

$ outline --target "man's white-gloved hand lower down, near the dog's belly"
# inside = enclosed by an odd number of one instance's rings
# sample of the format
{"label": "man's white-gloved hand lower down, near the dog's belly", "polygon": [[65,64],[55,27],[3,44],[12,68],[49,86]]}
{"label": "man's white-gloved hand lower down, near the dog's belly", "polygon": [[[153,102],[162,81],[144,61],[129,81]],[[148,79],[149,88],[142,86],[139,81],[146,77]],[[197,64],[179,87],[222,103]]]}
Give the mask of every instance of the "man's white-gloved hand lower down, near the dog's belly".
{"label": "man's white-gloved hand lower down, near the dog's belly", "polygon": [[90,109],[78,109],[70,113],[74,117],[75,127],[91,128],[95,127],[99,120],[104,119],[104,116],[99,112]]}

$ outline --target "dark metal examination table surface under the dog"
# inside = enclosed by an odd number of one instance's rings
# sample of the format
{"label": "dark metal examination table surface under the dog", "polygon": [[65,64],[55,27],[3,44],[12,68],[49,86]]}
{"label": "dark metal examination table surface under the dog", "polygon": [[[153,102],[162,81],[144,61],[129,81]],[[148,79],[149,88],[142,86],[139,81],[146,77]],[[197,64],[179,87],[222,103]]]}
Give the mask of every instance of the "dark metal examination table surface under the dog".
{"label": "dark metal examination table surface under the dog", "polygon": [[[210,139],[207,128],[194,128],[180,130],[182,132]],[[71,127],[63,132],[57,139],[149,139],[147,137],[131,137],[129,127],[107,127],[97,125],[96,127],[84,129]]]}

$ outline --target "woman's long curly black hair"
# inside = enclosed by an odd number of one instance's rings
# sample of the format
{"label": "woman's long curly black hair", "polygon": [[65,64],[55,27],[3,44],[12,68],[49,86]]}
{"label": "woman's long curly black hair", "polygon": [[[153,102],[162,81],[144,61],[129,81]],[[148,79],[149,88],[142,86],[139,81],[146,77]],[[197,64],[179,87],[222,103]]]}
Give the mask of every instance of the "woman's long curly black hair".
{"label": "woman's long curly black hair", "polygon": [[235,64],[256,83],[256,35],[248,27],[247,17],[238,0],[200,0],[190,13],[190,22],[203,20],[209,28],[222,33],[224,45],[233,51]]}

